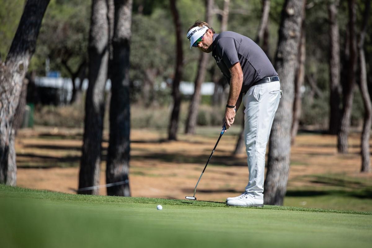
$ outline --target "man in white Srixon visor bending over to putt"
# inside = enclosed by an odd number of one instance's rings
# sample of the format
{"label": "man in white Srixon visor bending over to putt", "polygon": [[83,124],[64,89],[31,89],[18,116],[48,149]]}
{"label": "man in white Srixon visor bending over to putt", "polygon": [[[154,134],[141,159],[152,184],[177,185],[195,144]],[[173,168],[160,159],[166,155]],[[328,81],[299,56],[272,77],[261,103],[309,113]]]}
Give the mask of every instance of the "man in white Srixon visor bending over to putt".
{"label": "man in white Srixon visor bending over to putt", "polygon": [[281,97],[278,74],[250,38],[235,32],[215,33],[208,23],[196,21],[187,32],[192,47],[212,52],[230,84],[223,123],[230,128],[235,112],[244,104],[244,138],[249,180],[246,190],[226,199],[229,206],[263,206],[266,145]]}

